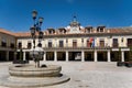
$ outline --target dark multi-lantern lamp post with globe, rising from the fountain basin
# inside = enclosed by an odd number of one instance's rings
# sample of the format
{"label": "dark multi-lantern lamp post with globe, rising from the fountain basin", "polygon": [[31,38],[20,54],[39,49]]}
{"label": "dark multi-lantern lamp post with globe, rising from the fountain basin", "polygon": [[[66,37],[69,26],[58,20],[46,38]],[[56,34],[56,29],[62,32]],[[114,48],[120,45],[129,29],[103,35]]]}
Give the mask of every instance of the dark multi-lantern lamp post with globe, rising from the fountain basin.
{"label": "dark multi-lantern lamp post with globe, rising from the fountain basin", "polygon": [[[43,51],[42,44],[41,44],[41,41],[43,38],[43,32],[41,31],[41,25],[43,23],[43,18],[38,18],[38,21],[36,21],[36,15],[37,15],[37,11],[33,11],[32,12],[32,18],[33,18],[34,24],[33,24],[33,26],[30,28],[30,30],[31,30],[31,35],[32,35],[32,38],[33,38],[33,45],[34,46],[31,50],[30,54],[33,57],[35,64],[37,64],[35,66],[40,67],[40,59],[44,55],[44,51]],[[35,47],[36,37],[38,38],[37,47]]]}

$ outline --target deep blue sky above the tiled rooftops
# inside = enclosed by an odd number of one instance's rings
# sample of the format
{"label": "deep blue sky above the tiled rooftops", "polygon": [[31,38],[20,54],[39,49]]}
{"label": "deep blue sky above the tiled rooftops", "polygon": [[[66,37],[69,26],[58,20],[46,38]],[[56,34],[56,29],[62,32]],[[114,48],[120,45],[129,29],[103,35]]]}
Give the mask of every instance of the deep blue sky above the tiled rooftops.
{"label": "deep blue sky above the tiled rooftops", "polygon": [[0,0],[0,28],[30,31],[33,10],[44,18],[42,30],[66,28],[74,15],[81,26],[132,26],[132,0]]}

